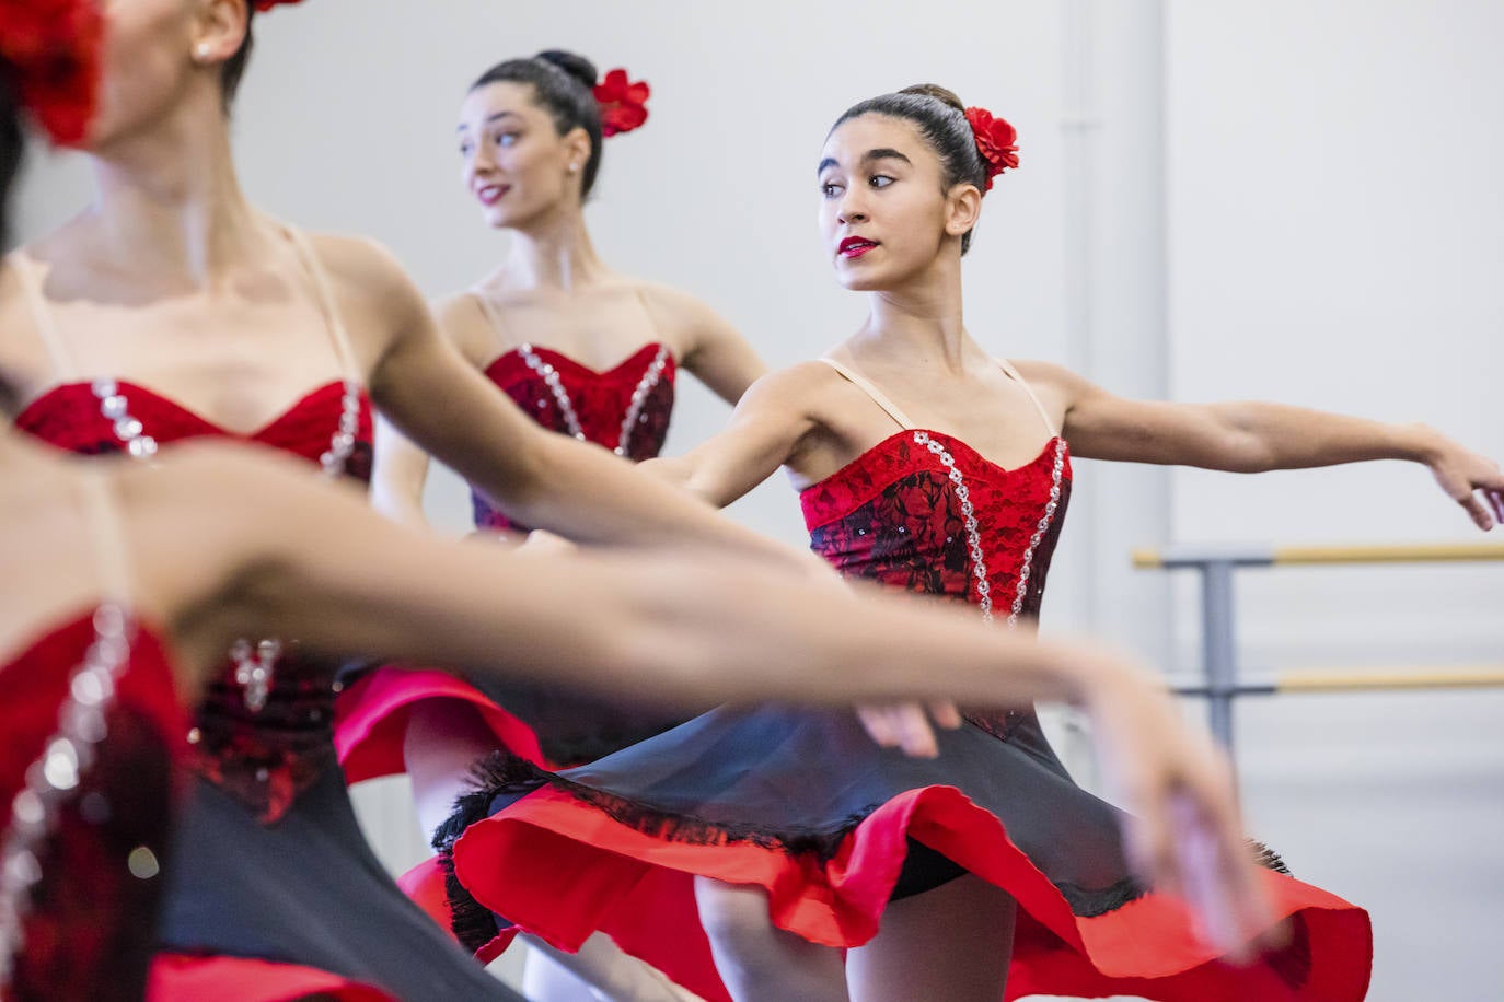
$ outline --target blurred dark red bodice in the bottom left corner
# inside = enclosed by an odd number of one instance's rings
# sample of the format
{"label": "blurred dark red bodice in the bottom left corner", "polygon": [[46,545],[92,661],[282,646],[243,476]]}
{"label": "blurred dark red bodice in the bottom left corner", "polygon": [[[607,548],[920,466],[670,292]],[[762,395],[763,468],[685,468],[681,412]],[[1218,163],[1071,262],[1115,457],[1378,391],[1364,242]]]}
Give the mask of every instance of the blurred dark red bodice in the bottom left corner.
{"label": "blurred dark red bodice in the bottom left corner", "polygon": [[[0,667],[0,828],[26,772],[59,727],[74,669],[95,640],[93,610]],[[153,949],[159,870],[176,801],[171,763],[186,751],[186,715],[162,646],[131,640],[105,739],[63,801],[39,853],[17,999],[137,999]]]}

